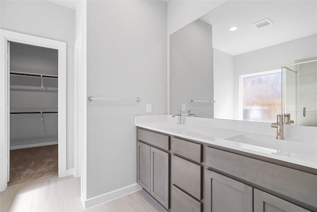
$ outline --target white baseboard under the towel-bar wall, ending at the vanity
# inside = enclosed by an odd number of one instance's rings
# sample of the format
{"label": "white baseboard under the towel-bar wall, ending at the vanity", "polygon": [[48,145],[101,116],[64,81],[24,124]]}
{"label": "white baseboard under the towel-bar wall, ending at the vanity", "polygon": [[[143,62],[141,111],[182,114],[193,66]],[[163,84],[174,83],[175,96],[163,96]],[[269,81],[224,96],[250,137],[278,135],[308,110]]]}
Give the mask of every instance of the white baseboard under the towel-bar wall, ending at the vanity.
{"label": "white baseboard under the towel-bar wall, ending at the vanity", "polygon": [[135,183],[135,184],[132,184],[130,186],[126,186],[126,187],[123,187],[121,189],[117,189],[117,190],[108,192],[106,194],[102,194],[102,195],[99,195],[97,197],[90,198],[88,200],[82,200],[82,203],[84,205],[84,209],[86,210],[86,209],[92,208],[94,206],[98,206],[100,204],[106,203],[108,201],[117,199],[117,198],[122,197],[124,195],[136,192],[140,189],[141,189],[141,186],[139,184]]}

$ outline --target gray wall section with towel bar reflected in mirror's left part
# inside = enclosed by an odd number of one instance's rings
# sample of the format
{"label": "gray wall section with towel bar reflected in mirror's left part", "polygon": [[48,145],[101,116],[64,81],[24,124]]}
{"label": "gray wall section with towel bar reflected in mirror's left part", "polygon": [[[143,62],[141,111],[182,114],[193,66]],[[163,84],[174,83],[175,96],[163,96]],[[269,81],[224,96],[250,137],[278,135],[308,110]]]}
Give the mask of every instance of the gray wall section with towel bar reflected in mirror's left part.
{"label": "gray wall section with towel bar reflected in mirror's left part", "polygon": [[212,27],[196,20],[170,35],[170,113],[194,109],[198,117],[213,118],[213,104],[189,99],[213,99]]}

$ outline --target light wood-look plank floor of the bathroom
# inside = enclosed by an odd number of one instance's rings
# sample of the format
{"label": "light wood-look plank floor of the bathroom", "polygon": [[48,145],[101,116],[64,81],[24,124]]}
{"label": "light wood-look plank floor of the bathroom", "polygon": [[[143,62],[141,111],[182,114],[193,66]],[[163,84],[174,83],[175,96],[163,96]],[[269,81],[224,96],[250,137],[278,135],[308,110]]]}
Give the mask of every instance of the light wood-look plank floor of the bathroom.
{"label": "light wood-look plank floor of the bathroom", "polygon": [[[1,212],[83,212],[80,178],[53,176],[9,186],[0,193]],[[165,212],[143,190],[128,194],[86,212]]]}

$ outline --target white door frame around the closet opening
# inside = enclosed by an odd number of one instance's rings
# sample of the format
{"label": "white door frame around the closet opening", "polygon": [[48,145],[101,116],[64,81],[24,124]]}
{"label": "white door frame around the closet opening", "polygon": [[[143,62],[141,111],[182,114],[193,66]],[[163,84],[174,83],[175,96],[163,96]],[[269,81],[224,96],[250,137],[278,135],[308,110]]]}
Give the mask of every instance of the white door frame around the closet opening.
{"label": "white door frame around the closet opening", "polygon": [[0,29],[0,191],[6,189],[9,175],[8,41],[58,50],[58,176],[66,176],[66,43]]}

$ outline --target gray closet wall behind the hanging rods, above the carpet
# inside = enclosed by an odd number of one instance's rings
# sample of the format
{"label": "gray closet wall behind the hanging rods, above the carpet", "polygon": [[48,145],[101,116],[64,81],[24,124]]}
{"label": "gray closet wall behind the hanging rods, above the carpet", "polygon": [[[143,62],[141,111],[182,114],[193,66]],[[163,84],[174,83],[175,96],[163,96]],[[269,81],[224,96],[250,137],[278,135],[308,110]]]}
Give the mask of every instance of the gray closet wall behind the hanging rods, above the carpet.
{"label": "gray closet wall behind the hanging rods, above the carpet", "polygon": [[[58,75],[58,51],[10,42],[10,71]],[[56,78],[11,74],[10,112],[57,111]],[[42,120],[43,118],[43,120]],[[11,114],[10,146],[46,143],[58,140],[57,113]]]}

